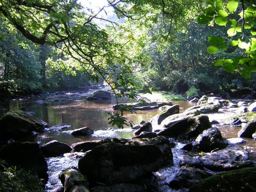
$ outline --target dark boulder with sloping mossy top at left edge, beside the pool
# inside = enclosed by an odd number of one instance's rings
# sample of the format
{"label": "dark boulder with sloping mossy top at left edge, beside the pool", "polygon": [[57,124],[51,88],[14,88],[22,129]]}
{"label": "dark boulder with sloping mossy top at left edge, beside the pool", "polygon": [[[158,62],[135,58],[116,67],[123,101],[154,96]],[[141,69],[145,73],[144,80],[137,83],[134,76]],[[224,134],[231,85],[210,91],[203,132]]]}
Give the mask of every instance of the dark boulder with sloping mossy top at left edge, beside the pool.
{"label": "dark boulder with sloping mossy top at left edge, beside the pool", "polygon": [[1,136],[4,139],[25,137],[32,131],[42,132],[48,124],[24,111],[15,110],[6,113],[0,119]]}

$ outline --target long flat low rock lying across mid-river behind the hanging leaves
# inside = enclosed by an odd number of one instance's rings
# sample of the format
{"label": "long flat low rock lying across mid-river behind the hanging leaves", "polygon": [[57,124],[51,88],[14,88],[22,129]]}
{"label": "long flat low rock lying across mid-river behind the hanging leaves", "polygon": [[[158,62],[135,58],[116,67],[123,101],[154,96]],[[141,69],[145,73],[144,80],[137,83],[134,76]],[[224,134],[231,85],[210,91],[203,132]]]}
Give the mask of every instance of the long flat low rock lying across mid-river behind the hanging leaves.
{"label": "long flat low rock lying across mid-river behind the hanging leaves", "polygon": [[126,104],[118,104],[113,105],[113,110],[119,110],[121,106],[126,106],[131,108],[131,110],[149,110],[149,109],[157,109],[164,105],[172,106],[172,102],[134,102],[134,103],[126,103]]}

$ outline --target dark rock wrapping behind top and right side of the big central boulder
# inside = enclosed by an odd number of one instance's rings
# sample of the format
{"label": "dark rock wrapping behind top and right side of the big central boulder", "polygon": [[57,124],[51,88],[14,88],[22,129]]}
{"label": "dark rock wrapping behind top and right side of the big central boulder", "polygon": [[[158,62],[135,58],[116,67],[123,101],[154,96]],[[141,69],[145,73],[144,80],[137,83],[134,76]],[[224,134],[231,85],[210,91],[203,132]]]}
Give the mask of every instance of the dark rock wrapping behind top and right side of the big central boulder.
{"label": "dark rock wrapping behind top and right side of the big central boulder", "polygon": [[161,166],[173,165],[172,148],[175,143],[171,143],[168,139],[162,136],[155,137],[153,139],[141,138],[131,139],[125,145],[156,145],[162,152]]}

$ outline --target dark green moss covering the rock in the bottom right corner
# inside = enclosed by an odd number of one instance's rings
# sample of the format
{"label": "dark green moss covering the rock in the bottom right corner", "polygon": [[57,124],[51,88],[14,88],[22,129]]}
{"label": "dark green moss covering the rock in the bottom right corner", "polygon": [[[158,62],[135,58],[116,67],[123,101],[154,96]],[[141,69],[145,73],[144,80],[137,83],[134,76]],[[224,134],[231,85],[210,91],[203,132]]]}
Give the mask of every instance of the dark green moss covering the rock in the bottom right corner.
{"label": "dark green moss covering the rock in the bottom right corner", "polygon": [[193,185],[189,192],[256,192],[256,167],[213,175]]}

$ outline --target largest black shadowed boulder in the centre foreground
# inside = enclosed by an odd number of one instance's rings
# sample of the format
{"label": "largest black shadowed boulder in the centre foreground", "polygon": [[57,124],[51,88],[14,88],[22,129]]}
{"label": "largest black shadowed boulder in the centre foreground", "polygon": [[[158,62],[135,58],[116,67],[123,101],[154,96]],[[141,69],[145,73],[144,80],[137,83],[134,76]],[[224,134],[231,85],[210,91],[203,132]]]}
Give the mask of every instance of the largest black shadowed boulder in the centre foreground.
{"label": "largest black shadowed boulder in the centre foreground", "polygon": [[160,168],[162,152],[156,145],[122,145],[106,143],[97,146],[79,160],[79,171],[94,186],[129,182]]}

